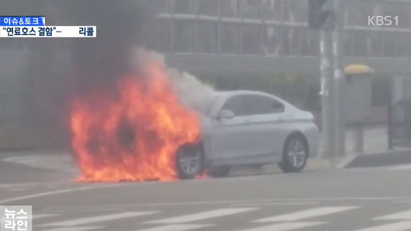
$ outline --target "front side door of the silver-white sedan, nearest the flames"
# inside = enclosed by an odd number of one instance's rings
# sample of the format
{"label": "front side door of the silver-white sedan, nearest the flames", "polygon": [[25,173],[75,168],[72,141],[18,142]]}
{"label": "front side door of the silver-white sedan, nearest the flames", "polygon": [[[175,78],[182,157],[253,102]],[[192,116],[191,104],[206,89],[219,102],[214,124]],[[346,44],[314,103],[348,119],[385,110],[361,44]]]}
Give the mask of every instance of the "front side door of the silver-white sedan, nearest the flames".
{"label": "front side door of the silver-white sedan, nearest the flames", "polygon": [[249,116],[243,96],[237,94],[229,97],[219,110],[230,110],[234,117],[216,118],[212,122],[213,159],[219,159],[221,164],[236,164],[240,157],[248,155],[250,143]]}

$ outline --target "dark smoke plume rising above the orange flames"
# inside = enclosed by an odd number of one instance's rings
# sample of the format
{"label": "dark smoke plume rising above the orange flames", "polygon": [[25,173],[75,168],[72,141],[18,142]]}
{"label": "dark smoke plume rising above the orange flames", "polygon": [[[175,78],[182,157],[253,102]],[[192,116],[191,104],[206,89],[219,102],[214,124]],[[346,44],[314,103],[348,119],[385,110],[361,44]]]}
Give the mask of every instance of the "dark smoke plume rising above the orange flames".
{"label": "dark smoke plume rising above the orange flames", "polygon": [[97,38],[72,41],[74,91],[111,88],[133,68],[132,52],[144,46],[150,14],[143,1],[72,1],[70,5],[73,24],[97,26]]}

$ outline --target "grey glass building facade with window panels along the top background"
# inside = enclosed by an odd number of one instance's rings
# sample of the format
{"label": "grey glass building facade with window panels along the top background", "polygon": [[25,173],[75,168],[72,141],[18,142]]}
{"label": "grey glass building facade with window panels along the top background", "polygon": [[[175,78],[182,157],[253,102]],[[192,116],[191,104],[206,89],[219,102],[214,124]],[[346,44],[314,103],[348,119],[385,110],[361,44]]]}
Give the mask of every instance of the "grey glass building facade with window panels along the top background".
{"label": "grey glass building facade with window panels along the top background", "polygon": [[[410,57],[411,6],[343,1],[347,57]],[[319,56],[319,31],[307,26],[307,0],[146,0],[156,13],[150,47],[166,54]],[[368,16],[399,17],[368,26]]]}

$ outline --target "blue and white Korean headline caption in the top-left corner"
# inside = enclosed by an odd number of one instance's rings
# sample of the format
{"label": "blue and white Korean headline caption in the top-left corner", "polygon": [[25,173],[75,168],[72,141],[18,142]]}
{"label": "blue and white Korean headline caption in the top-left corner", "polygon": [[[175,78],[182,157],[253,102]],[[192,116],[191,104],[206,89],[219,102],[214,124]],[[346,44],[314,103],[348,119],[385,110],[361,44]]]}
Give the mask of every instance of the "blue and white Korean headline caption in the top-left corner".
{"label": "blue and white Korean headline caption in the top-left corner", "polygon": [[95,38],[96,26],[46,26],[44,16],[0,16],[0,38]]}

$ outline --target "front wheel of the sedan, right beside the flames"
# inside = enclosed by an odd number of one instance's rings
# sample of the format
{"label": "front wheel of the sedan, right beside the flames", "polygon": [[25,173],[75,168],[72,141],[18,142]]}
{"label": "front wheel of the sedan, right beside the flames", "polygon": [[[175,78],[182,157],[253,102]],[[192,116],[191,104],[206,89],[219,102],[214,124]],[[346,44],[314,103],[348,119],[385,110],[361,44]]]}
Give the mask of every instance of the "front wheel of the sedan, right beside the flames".
{"label": "front wheel of the sedan, right beside the flames", "polygon": [[176,154],[179,179],[193,179],[203,171],[203,150],[201,145],[182,145]]}

